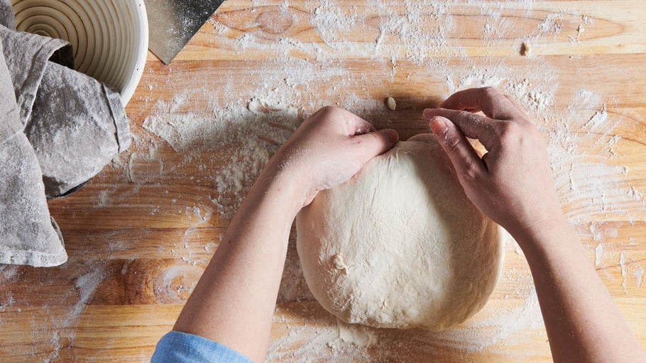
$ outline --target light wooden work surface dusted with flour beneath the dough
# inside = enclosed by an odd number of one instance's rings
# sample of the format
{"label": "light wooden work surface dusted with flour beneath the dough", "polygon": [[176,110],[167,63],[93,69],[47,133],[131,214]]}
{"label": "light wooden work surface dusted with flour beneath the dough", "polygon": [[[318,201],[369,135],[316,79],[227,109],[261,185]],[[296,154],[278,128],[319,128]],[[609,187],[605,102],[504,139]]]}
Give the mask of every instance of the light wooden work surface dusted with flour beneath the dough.
{"label": "light wooden work surface dusted with flour beneath the dough", "polygon": [[[149,54],[126,108],[130,149],[50,202],[69,261],[1,267],[0,361],[147,362],[263,157],[302,117],[339,104],[407,138],[425,131],[423,108],[482,84],[534,116],[563,209],[646,347],[645,14],[644,1],[226,1],[171,65]],[[263,108],[252,118],[217,111],[252,99]],[[288,107],[297,117],[280,123],[280,140],[251,124]],[[178,133],[180,121],[221,128],[174,148],[151,117],[175,120]],[[471,320],[439,333],[359,329],[364,345],[340,339],[346,328],[312,300],[293,243],[269,361],[550,360],[512,240],[498,288]]]}

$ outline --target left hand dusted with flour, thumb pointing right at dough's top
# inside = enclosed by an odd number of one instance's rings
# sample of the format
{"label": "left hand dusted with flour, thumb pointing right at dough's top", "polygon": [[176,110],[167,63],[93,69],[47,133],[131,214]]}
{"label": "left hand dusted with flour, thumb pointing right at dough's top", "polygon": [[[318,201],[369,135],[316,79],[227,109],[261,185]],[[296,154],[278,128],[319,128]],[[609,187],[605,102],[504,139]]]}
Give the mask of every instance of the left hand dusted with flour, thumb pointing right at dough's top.
{"label": "left hand dusted with flour, thumb pointing right at dough's top", "polygon": [[307,206],[318,191],[348,181],[397,140],[395,130],[376,131],[358,116],[327,106],[307,118],[270,163],[297,176],[304,190],[302,206]]}

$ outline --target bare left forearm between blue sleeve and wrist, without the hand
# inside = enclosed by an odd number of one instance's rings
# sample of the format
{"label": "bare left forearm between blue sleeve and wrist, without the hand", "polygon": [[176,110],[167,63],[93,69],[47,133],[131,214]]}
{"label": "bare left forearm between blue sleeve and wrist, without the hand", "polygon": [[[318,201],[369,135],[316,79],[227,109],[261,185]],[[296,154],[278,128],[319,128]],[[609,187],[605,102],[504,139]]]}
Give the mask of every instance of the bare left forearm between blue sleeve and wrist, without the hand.
{"label": "bare left forearm between blue sleeve and wrist, without the hand", "polygon": [[207,337],[264,361],[300,194],[289,176],[265,167],[173,330]]}

